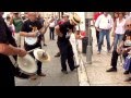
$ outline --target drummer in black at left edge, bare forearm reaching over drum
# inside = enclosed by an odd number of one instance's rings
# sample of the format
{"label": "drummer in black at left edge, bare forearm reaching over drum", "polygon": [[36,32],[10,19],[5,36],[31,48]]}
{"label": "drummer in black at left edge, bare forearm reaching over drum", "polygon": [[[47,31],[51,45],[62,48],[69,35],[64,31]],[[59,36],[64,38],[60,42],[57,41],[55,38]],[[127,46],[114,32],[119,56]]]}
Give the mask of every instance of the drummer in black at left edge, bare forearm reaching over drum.
{"label": "drummer in black at left edge, bare forearm reaching over drum", "polygon": [[9,56],[16,58],[26,56],[26,51],[16,47],[15,39],[7,26],[3,12],[0,12],[0,86],[15,86],[14,65]]}

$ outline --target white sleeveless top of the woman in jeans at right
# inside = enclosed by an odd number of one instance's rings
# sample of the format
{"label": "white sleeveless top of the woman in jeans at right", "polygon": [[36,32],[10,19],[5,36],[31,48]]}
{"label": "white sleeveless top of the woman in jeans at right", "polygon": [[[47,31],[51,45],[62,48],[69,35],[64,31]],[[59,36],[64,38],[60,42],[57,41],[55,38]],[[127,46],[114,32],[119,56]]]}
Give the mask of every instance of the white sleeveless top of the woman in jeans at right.
{"label": "white sleeveless top of the woman in jeans at right", "polygon": [[119,19],[116,20],[117,21],[117,26],[116,26],[116,34],[124,34],[126,29],[124,29],[124,24],[126,24],[126,19],[122,19],[121,22],[119,22]]}

